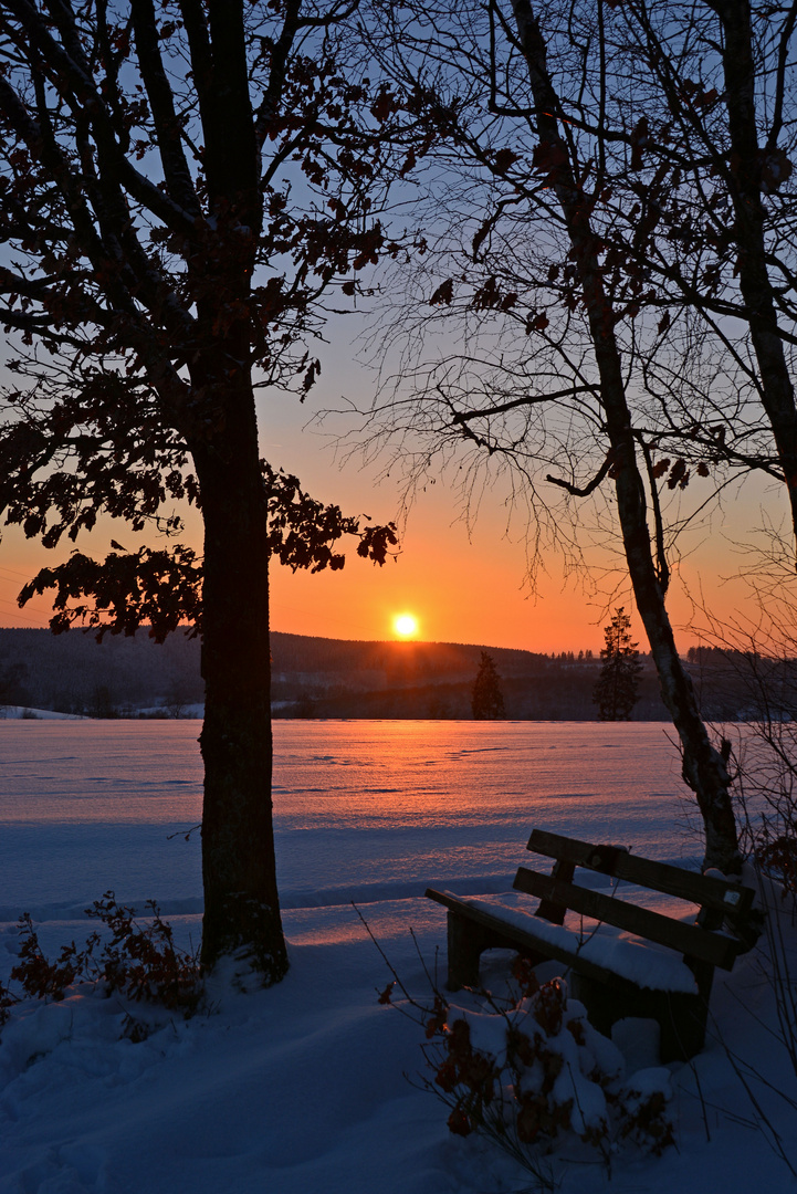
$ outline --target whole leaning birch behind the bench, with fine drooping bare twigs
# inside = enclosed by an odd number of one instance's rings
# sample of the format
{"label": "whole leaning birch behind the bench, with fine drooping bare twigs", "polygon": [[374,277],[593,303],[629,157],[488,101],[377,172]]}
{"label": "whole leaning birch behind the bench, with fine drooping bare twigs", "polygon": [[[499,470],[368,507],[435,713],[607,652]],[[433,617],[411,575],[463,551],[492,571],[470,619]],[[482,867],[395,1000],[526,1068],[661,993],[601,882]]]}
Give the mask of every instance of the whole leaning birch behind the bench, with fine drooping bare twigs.
{"label": "whole leaning birch behind the bench, with fine drooping bare twigs", "polygon": [[[409,457],[414,479],[446,455],[456,460],[462,445],[471,461],[498,461],[542,517],[554,486],[576,521],[579,507],[611,488],[705,825],[705,861],[737,869],[725,758],[700,718],[667,613],[680,521],[675,510],[668,522],[667,503],[694,475],[713,473],[722,485],[750,468],[784,472],[747,362],[737,351],[724,367],[733,401],[712,389],[728,337],[690,307],[673,254],[651,252],[659,193],[673,185],[678,155],[640,173],[651,82],[630,18],[600,4],[493,0],[456,12],[402,5],[390,20],[383,61],[435,110],[432,202],[450,220],[428,224],[426,264],[408,283],[400,333],[388,337],[388,351],[403,352],[402,384],[410,373],[413,386],[396,384],[373,412],[376,436],[387,426],[408,444],[425,437]],[[685,260],[681,253],[676,264]],[[734,309],[725,301],[719,313]],[[435,355],[445,341],[433,343],[434,326],[457,337],[453,351]],[[566,523],[555,521],[561,536]]]}

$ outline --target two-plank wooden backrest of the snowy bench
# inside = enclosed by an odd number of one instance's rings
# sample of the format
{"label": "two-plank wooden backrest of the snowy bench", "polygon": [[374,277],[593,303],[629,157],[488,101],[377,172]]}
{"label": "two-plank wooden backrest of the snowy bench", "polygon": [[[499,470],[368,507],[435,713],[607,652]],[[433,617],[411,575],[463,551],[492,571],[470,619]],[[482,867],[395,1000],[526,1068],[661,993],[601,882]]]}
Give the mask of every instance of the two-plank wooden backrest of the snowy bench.
{"label": "two-plank wooden backrest of the snowy bench", "polygon": [[[542,875],[520,867],[514,881],[519,891],[539,897],[542,904],[537,915],[546,919],[562,923],[564,909],[570,909],[723,970],[733,967],[742,949],[734,937],[706,930],[718,929],[727,917],[743,919],[754,899],[749,887],[641,858],[622,847],[579,842],[544,830],[533,831],[529,849],[557,860],[554,874]],[[572,882],[576,866],[697,904],[703,927],[579,887]]]}

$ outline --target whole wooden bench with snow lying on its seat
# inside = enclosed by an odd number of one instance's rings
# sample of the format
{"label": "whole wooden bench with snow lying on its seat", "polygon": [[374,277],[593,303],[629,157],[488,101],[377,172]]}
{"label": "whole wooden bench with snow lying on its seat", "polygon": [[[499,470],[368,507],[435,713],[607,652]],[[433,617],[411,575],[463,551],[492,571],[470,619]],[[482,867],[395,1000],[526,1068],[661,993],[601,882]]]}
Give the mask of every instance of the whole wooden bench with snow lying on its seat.
{"label": "whole wooden bench with snow lying on its seat", "polygon": [[[533,915],[427,888],[426,894],[449,910],[449,990],[478,986],[484,949],[513,949],[533,965],[562,962],[572,995],[606,1035],[618,1020],[653,1018],[661,1028],[662,1061],[698,1053],[705,1041],[715,967],[731,970],[737,955],[755,941],[753,890],[641,858],[622,847],[594,845],[543,830],[533,831],[527,849],[556,860],[550,875],[526,867],[518,870],[514,887],[540,901]],[[696,922],[687,924],[576,886],[576,867],[687,900],[699,909]],[[566,927],[568,910],[599,924]],[[600,924],[637,940],[601,933]]]}

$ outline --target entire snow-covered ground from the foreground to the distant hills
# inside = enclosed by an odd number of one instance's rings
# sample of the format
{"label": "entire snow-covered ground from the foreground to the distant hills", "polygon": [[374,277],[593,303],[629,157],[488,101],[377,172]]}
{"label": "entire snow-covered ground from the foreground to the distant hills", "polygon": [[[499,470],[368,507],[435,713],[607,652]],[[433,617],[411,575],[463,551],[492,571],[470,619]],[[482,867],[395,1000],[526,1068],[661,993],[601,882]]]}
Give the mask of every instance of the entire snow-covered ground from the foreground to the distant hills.
{"label": "entire snow-covered ground from the foreground to the distant hills", "polygon": [[[198,722],[0,722],[0,979],[30,911],[50,954],[85,940],[104,891],[155,898],[199,930]],[[532,826],[697,866],[676,751],[656,725],[277,722],[277,849],[291,971],[272,991],[211,983],[206,1010],[119,1039],[123,1001],[80,987],[14,1009],[0,1045],[0,1190],[14,1194],[496,1194],[529,1176],[410,1085],[421,1029],[377,1003],[390,978],[354,899],[413,992],[445,949],[427,884],[511,887]],[[501,981],[505,958],[487,978]],[[797,968],[796,968],[797,972]],[[718,974],[712,1040],[672,1065],[676,1149],[622,1149],[608,1180],[554,1158],[564,1190],[797,1189],[797,1081],[772,1035],[758,953]],[[771,1083],[747,1079],[728,1050]],[[638,1061],[638,1058],[637,1058]],[[634,1066],[634,1058],[629,1055]],[[736,1063],[736,1069],[739,1069]],[[594,1159],[594,1158],[593,1158]],[[577,1163],[576,1163],[577,1161]]]}

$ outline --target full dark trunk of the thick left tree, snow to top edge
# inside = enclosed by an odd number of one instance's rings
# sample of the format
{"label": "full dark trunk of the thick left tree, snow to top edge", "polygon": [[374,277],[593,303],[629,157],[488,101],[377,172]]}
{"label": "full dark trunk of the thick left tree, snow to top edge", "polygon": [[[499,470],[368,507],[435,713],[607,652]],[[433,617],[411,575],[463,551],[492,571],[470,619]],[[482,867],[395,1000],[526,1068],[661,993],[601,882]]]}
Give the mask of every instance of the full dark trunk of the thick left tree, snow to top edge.
{"label": "full dark trunk of the thick left tree, snow to top edge", "polygon": [[[266,984],[288,970],[271,806],[266,496],[252,390],[249,297],[262,227],[260,156],[241,4],[183,6],[205,137],[215,239],[197,254],[202,411],[191,449],[205,524],[202,671],[205,764],[202,960],[246,959]],[[290,39],[289,43],[290,45]],[[288,47],[286,47],[288,49]]]}

